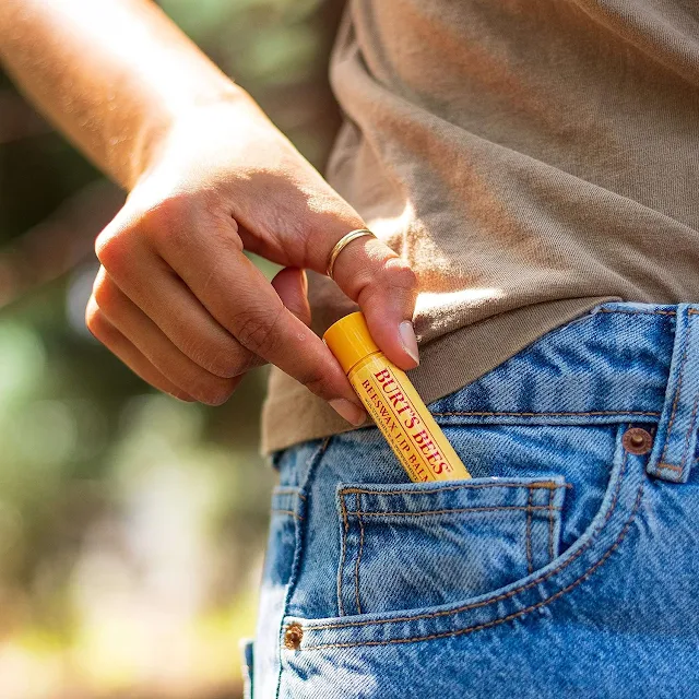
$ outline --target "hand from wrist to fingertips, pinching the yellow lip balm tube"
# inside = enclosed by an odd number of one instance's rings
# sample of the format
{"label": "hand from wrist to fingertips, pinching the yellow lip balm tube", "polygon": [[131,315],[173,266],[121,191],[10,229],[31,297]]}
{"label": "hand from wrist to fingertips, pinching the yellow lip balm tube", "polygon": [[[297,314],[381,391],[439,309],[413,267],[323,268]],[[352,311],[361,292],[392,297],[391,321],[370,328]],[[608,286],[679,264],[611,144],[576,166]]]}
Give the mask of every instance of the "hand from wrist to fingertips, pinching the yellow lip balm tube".
{"label": "hand from wrist to fingertips, pinching the yellow lip balm tube", "polygon": [[[362,424],[358,398],[307,327],[303,271],[325,272],[335,242],[365,227],[357,212],[248,97],[177,119],[154,154],[97,237],[91,332],[179,399],[221,404],[248,369],[271,362]],[[285,269],[270,284],[244,249]],[[339,256],[334,279],[387,356],[415,367],[410,266],[364,237]]]}

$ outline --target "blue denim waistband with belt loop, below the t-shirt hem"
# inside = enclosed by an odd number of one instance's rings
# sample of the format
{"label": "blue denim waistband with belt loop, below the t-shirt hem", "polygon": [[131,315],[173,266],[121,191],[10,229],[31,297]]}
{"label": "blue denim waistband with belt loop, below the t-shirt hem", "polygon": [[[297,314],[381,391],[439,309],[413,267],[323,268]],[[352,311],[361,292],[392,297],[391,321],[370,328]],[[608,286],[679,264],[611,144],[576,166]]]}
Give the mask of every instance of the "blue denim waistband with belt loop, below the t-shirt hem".
{"label": "blue denim waistband with belt loop, below the t-shirt hem", "polygon": [[699,306],[609,303],[429,405],[441,425],[648,424],[648,472],[685,483],[695,462]]}

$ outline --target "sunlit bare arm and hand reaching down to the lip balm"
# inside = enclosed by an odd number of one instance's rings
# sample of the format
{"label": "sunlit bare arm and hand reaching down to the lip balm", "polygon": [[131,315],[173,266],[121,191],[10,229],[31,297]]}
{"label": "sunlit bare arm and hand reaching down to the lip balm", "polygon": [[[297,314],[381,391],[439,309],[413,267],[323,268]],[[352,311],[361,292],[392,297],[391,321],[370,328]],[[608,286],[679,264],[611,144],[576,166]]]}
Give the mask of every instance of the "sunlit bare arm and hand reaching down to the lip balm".
{"label": "sunlit bare arm and hand reaching down to the lip balm", "polygon": [[[25,94],[129,191],[97,236],[91,332],[145,381],[225,402],[272,363],[347,420],[366,415],[308,329],[304,270],[365,227],[274,127],[149,0],[2,0],[0,59]],[[244,254],[285,269],[270,284]],[[410,266],[372,238],[335,282],[398,366],[417,365]]]}

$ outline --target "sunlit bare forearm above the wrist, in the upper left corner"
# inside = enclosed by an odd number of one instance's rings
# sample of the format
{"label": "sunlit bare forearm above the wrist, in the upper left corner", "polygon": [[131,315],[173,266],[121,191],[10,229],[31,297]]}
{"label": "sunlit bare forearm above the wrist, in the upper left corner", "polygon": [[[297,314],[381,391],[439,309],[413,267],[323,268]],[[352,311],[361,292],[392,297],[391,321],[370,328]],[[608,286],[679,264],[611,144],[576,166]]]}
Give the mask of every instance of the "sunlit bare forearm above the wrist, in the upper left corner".
{"label": "sunlit bare forearm above the wrist, in the upper left corner", "polygon": [[249,102],[149,0],[2,0],[0,58],[39,109],[127,189],[180,115]]}

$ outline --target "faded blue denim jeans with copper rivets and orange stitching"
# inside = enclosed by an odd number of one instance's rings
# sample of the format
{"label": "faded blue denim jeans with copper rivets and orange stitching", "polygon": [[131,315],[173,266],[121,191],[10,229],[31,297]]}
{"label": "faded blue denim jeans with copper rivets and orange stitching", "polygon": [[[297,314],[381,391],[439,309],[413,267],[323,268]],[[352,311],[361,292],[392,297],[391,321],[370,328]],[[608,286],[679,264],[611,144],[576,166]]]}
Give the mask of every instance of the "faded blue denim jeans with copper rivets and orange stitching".
{"label": "faded blue denim jeans with copper rivets and orange stitching", "polygon": [[429,407],[275,454],[256,699],[699,696],[699,306],[605,304]]}

